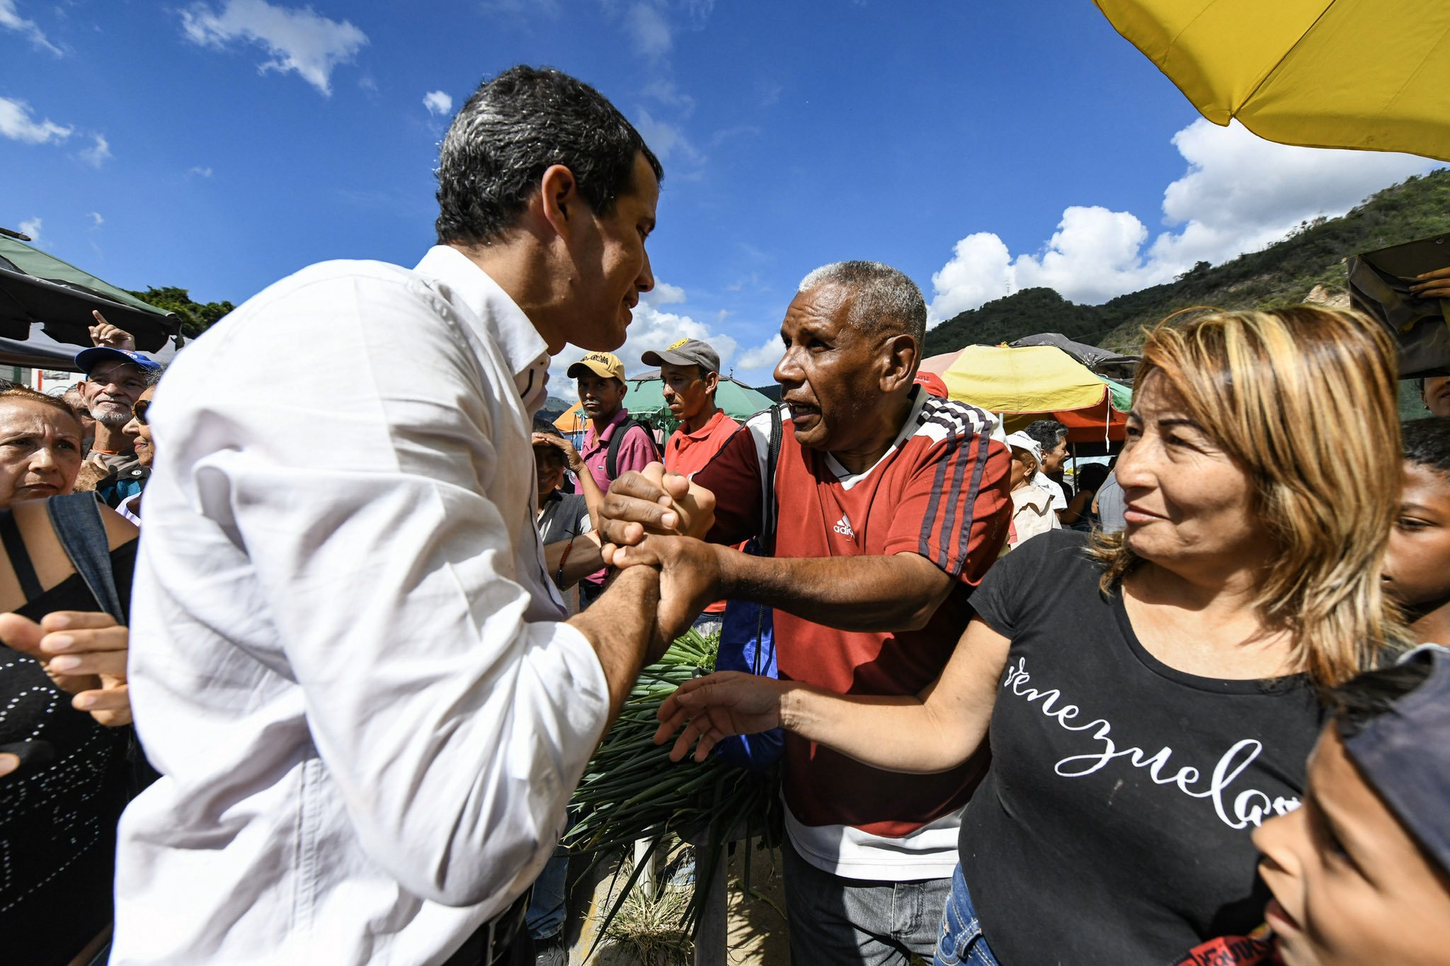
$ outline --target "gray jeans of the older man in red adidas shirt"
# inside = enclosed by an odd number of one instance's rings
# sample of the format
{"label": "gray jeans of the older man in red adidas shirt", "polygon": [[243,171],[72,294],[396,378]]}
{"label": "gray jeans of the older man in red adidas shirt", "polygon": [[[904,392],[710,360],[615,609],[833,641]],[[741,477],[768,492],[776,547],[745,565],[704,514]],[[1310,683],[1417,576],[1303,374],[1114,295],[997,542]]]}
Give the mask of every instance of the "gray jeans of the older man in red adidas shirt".
{"label": "gray jeans of the older man in red adidas shirt", "polygon": [[951,879],[874,882],[822,872],[786,838],[793,966],[906,966],[931,956]]}

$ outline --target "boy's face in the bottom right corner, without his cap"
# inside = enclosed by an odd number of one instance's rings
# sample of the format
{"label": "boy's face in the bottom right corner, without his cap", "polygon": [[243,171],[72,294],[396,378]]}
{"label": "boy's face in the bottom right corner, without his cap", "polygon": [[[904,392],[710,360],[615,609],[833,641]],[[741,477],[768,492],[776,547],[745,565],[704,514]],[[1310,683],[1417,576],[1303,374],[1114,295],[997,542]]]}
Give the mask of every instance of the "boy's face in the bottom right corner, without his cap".
{"label": "boy's face in the bottom right corner, without his cap", "polygon": [[1450,879],[1364,782],[1333,722],[1309,756],[1304,805],[1264,822],[1254,846],[1286,966],[1446,962]]}

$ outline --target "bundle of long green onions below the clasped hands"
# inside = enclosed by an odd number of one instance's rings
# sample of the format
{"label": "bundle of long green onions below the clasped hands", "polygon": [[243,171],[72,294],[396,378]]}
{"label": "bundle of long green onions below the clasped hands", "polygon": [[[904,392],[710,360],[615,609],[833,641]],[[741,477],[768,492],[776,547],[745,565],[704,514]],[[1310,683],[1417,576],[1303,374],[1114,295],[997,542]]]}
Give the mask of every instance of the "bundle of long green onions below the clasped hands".
{"label": "bundle of long green onions below the clasped hands", "polygon": [[[641,672],[574,792],[576,820],[563,844],[570,851],[589,854],[590,867],[635,841],[650,841],[648,853],[606,914],[606,925],[645,863],[671,835],[696,843],[696,880],[702,883],[710,882],[732,838],[761,835],[767,846],[779,844],[779,769],[747,772],[715,754],[705,761],[686,757],[676,763],[670,761],[670,743],[654,743],[660,705],[686,680],[713,670],[716,644],[713,635],[706,638],[687,631],[664,657]],[[745,864],[748,879],[748,851]],[[703,898],[705,889],[696,889],[686,928],[699,924]]]}

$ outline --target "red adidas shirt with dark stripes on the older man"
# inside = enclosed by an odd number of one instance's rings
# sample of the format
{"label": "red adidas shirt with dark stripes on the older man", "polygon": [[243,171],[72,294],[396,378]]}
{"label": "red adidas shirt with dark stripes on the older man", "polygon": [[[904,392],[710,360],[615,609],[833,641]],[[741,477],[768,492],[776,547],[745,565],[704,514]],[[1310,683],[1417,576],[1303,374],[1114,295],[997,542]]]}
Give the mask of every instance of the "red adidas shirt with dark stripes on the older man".
{"label": "red adidas shirt with dark stripes on the older man", "polygon": [[[715,493],[713,542],[738,544],[761,525],[770,413],[745,425],[695,474]],[[958,585],[919,631],[840,631],[777,609],[782,677],[848,695],[915,695],[941,674],[972,616],[970,589],[996,558],[1011,519],[1011,457],[983,434],[987,425],[980,409],[918,392],[892,450],[842,480],[834,460],[796,442],[786,416],[776,466],[777,557],[915,553]],[[961,808],[983,770],[985,754],[940,775],[882,772],[786,734],[786,804],[806,825],[906,835]]]}

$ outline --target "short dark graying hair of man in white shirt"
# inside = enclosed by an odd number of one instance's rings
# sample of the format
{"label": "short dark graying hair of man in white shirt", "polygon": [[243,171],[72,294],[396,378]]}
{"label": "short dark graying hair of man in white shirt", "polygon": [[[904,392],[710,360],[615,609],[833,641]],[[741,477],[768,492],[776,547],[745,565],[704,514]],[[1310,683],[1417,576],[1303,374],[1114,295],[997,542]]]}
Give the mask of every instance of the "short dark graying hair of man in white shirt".
{"label": "short dark graying hair of man in white shirt", "polygon": [[664,178],[639,132],[597,90],[552,68],[512,67],[478,86],[444,136],[438,242],[497,241],[555,164],[605,218],[635,189],[637,154]]}

